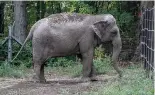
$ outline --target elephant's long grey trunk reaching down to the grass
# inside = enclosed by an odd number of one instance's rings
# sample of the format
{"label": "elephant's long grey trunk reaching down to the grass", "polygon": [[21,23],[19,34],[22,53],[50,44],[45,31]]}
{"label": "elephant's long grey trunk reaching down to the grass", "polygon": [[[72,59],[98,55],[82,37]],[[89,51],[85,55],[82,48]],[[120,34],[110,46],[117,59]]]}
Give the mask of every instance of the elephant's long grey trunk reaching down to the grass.
{"label": "elephant's long grey trunk reaching down to the grass", "polygon": [[122,77],[122,71],[117,66],[118,56],[122,49],[122,41],[120,37],[115,37],[112,41],[113,44],[113,54],[112,54],[112,65],[117,71],[120,77]]}

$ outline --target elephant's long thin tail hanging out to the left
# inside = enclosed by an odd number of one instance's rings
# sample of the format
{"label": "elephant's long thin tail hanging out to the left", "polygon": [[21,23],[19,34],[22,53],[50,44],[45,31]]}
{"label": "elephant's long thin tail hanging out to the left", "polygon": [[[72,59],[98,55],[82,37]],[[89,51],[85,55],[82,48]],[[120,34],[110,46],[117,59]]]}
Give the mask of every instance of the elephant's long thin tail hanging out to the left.
{"label": "elephant's long thin tail hanging out to the left", "polygon": [[34,30],[35,30],[35,27],[36,27],[36,24],[34,24],[34,25],[32,26],[32,28],[30,29],[30,32],[29,32],[28,36],[26,37],[26,39],[25,39],[23,45],[21,46],[20,50],[18,51],[18,53],[16,54],[16,56],[13,58],[13,60],[12,60],[11,62],[13,62],[13,61],[18,57],[18,55],[20,54],[20,52],[21,52],[22,49],[24,48],[26,42],[27,42],[28,40],[32,39],[32,37],[33,37],[33,32],[34,32]]}

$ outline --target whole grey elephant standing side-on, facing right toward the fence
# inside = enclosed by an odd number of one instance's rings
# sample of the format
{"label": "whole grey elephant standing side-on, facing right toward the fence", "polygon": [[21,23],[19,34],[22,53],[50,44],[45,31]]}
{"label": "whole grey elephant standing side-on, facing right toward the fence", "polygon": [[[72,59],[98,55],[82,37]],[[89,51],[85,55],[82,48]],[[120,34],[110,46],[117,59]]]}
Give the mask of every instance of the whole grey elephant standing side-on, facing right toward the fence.
{"label": "whole grey elephant standing side-on, facing right toward the fence", "polygon": [[67,55],[80,55],[83,77],[93,78],[94,48],[107,41],[112,41],[113,44],[113,67],[119,76],[122,75],[117,67],[122,43],[116,20],[111,14],[94,16],[77,13],[53,14],[32,26],[24,44],[30,38],[33,45],[35,81],[45,82],[44,64],[48,58]]}

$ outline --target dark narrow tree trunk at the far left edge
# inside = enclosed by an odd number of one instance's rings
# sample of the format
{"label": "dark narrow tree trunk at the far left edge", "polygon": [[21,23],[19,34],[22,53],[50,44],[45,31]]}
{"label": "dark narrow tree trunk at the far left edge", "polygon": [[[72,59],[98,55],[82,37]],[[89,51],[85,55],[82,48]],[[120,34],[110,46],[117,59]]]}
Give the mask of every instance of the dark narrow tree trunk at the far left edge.
{"label": "dark narrow tree trunk at the far left edge", "polygon": [[4,6],[5,2],[0,2],[0,34],[4,33]]}

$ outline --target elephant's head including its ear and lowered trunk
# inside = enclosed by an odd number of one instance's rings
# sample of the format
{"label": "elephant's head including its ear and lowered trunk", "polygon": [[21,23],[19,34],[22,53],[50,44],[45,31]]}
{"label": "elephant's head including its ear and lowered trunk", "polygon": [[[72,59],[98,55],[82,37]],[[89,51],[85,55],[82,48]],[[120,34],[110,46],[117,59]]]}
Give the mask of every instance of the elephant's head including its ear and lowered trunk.
{"label": "elephant's head including its ear and lowered trunk", "polygon": [[93,31],[98,36],[101,42],[112,41],[113,67],[121,77],[122,73],[117,66],[117,59],[121,52],[122,42],[121,42],[119,28],[116,24],[115,18],[111,14],[97,15],[97,16],[88,17],[88,19],[86,19],[86,23],[91,25]]}

